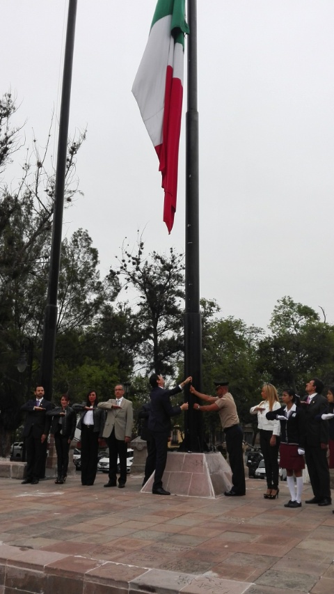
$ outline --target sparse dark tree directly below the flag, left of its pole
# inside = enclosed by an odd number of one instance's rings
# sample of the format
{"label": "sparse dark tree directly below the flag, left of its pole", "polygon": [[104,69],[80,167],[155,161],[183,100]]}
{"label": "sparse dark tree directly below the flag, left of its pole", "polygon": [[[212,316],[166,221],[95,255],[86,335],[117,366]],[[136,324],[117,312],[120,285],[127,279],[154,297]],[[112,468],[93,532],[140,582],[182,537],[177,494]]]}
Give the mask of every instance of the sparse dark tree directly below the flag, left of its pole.
{"label": "sparse dark tree directly below the flag, left of its pole", "polygon": [[132,288],[137,298],[138,352],[136,363],[150,373],[173,375],[175,357],[183,351],[184,256],[170,248],[168,256],[156,251],[144,256],[144,242],[136,252],[122,248],[118,267],[111,268],[109,280],[118,276],[122,288]]}

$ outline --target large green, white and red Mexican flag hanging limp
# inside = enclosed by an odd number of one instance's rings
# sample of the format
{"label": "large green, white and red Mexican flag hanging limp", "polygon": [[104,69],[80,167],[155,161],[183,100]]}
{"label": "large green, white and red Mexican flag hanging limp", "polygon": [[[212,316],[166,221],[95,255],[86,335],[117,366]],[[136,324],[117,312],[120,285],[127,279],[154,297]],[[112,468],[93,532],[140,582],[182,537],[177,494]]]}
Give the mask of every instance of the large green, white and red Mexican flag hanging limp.
{"label": "large green, white and red Mexican flag hanging limp", "polygon": [[148,44],[134,80],[136,98],[159,158],[165,191],[164,222],[173,228],[181,129],[185,0],[158,0]]}

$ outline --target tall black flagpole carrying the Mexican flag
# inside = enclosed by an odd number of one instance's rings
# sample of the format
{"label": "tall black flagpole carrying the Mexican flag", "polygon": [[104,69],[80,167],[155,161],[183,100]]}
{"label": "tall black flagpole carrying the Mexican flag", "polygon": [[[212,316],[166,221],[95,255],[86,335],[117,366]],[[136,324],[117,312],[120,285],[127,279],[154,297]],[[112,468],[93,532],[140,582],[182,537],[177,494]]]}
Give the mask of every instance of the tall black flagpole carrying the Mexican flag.
{"label": "tall black flagpole carrying the Mexican flag", "polygon": [[[198,188],[198,101],[197,101],[197,6],[188,0],[188,77],[186,111],[186,304],[184,315],[184,371],[193,376],[193,385],[202,391],[202,328],[200,321],[200,233]],[[185,418],[185,448],[201,452],[203,444],[202,413],[189,411]]]}

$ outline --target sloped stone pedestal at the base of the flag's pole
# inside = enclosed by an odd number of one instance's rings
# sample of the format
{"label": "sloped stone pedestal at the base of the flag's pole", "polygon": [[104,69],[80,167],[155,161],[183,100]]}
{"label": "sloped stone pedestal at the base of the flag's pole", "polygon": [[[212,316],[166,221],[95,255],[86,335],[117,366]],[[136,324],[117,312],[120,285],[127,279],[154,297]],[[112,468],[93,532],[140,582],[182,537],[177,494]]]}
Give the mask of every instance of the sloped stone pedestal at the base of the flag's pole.
{"label": "sloped stone pedestal at the base of the flag's pole", "polygon": [[[220,452],[168,452],[164,489],[173,495],[220,497],[232,488],[232,471]],[[142,493],[152,493],[153,475]]]}

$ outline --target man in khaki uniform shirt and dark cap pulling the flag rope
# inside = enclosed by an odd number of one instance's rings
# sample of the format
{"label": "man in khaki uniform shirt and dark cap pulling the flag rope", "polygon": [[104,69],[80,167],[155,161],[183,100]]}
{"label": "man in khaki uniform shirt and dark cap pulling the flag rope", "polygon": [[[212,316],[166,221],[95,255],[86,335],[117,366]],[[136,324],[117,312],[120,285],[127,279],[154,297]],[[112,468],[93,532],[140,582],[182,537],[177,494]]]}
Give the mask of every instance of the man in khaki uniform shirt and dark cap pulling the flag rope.
{"label": "man in khaki uniform shirt and dark cap pulling the flag rope", "polygon": [[225,491],[226,497],[235,497],[246,494],[246,480],[244,468],[244,451],[242,442],[244,432],[239,425],[239,416],[232,394],[228,391],[228,382],[214,382],[216,386],[216,396],[207,396],[201,394],[193,386],[190,387],[191,393],[208,402],[207,405],[199,405],[195,402],[193,408],[204,412],[216,411],[221,417],[221,426],[225,432],[226,449],[228,451],[228,460],[232,470],[232,489]]}

